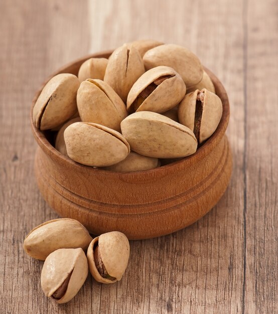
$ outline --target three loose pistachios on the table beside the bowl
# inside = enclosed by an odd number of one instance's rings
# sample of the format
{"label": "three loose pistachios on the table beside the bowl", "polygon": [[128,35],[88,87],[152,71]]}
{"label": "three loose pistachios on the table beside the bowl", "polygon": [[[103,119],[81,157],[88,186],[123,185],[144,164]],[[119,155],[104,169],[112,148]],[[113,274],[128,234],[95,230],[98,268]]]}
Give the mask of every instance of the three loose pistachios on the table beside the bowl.
{"label": "three loose pistachios on the table beside the bowl", "polygon": [[123,233],[112,231],[92,239],[80,222],[68,218],[34,228],[24,240],[24,250],[45,261],[41,286],[45,295],[58,303],[66,303],[77,294],[88,269],[98,282],[120,280],[129,258],[129,242]]}

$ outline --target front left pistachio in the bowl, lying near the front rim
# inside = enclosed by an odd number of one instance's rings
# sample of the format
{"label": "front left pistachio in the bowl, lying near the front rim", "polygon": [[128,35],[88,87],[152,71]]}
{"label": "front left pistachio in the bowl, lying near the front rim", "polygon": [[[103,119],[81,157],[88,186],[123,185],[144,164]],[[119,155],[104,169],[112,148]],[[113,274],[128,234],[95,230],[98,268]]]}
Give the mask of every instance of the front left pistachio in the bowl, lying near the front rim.
{"label": "front left pistachio in the bowl, lying near the front rim", "polygon": [[65,129],[64,139],[69,157],[87,166],[111,166],[130,152],[128,142],[119,132],[96,123],[73,123]]}

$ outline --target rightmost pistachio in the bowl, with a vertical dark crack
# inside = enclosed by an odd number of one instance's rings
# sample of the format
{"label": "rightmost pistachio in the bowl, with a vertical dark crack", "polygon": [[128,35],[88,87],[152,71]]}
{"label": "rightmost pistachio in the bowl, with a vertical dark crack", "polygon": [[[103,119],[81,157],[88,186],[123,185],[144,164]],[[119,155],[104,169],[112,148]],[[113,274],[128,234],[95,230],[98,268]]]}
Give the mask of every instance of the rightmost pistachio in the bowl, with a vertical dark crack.
{"label": "rightmost pistachio in the bowl, with a vertical dark crack", "polygon": [[199,143],[216,130],[222,116],[221,99],[207,89],[185,95],[179,105],[179,121],[194,131]]}

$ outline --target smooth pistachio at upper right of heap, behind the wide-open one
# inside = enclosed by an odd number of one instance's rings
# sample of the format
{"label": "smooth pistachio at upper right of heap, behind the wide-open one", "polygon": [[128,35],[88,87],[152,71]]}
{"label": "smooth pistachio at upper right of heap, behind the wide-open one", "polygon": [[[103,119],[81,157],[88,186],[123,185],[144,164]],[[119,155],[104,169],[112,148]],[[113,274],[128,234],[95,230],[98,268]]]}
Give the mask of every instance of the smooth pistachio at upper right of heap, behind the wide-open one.
{"label": "smooth pistachio at upper right of heap, behind the wide-open one", "polygon": [[179,45],[165,44],[146,52],[143,57],[146,70],[165,65],[175,69],[183,78],[186,88],[199,83],[203,67],[196,55]]}

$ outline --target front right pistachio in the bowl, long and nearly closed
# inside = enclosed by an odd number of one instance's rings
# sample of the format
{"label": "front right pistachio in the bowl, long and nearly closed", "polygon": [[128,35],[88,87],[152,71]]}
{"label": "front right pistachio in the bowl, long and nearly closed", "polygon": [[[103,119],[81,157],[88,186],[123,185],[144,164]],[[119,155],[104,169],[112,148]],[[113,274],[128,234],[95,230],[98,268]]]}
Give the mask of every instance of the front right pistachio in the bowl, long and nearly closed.
{"label": "front right pistachio in the bowl, long and nearly closed", "polygon": [[194,133],[164,115],[141,111],[121,121],[122,135],[137,153],[155,158],[179,158],[197,149]]}

